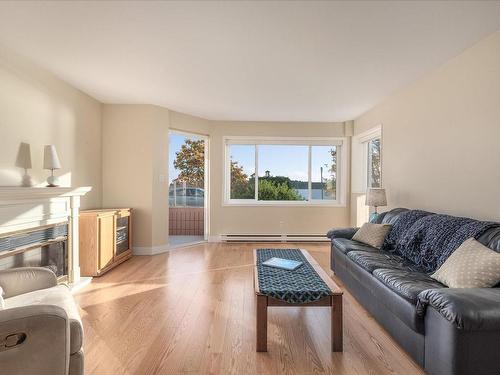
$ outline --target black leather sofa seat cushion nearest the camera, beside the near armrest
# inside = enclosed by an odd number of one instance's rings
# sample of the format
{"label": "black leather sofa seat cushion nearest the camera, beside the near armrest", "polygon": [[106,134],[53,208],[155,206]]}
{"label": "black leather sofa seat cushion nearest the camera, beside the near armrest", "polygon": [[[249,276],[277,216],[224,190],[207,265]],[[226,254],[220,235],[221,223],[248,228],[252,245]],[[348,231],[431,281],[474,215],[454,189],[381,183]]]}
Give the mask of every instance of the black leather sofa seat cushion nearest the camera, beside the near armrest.
{"label": "black leather sofa seat cushion nearest the camera, beside the near armrest", "polygon": [[402,269],[377,269],[373,276],[394,293],[416,305],[418,295],[427,289],[445,288],[443,284],[422,272]]}

